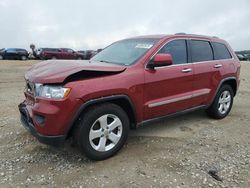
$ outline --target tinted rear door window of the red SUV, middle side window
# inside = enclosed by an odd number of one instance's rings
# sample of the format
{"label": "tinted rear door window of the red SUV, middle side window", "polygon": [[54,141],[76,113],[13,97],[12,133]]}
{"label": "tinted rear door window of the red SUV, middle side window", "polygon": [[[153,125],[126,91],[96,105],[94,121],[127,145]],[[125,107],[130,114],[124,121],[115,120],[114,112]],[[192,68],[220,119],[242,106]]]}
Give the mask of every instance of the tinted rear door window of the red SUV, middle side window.
{"label": "tinted rear door window of the red SUV, middle side window", "polygon": [[208,41],[191,40],[192,62],[213,60],[213,51]]}

